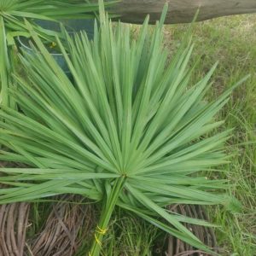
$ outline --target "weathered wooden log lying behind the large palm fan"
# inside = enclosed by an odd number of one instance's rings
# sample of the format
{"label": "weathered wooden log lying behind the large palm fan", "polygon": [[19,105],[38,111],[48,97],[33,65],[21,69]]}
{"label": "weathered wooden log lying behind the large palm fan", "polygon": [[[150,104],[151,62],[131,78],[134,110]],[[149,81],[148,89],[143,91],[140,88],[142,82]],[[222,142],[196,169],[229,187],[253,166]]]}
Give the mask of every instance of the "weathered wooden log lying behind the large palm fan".
{"label": "weathered wooden log lying behind the large palm fan", "polygon": [[197,9],[200,9],[197,20],[256,12],[256,0],[123,0],[115,11],[124,22],[141,24],[149,14],[150,22],[154,23],[166,2],[169,3],[166,24],[191,22]]}

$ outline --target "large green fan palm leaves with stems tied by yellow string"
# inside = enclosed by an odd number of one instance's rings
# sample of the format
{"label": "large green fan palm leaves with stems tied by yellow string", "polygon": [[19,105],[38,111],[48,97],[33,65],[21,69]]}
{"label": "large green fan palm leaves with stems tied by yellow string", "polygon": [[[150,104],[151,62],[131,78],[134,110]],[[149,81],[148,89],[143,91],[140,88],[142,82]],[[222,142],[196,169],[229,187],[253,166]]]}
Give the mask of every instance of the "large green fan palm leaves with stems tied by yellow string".
{"label": "large green fan palm leaves with stems tied by yellow string", "polygon": [[101,202],[94,256],[116,206],[210,252],[182,224],[207,223],[165,207],[233,202],[222,194],[226,181],[197,174],[227,162],[224,142],[230,131],[207,135],[223,123],[214,115],[232,89],[217,101],[203,101],[216,65],[190,84],[193,45],[184,39],[167,61],[165,15],[151,36],[147,18],[137,40],[131,40],[129,26],[113,28],[103,10],[101,16],[93,41],[85,33],[67,35],[67,53],[58,40],[73,81],[30,26],[39,50],[20,57],[24,73],[15,74],[17,89],[9,90],[21,112],[0,110],[0,142],[9,148],[1,159],[29,167],[0,170],[0,203],[64,193]]}

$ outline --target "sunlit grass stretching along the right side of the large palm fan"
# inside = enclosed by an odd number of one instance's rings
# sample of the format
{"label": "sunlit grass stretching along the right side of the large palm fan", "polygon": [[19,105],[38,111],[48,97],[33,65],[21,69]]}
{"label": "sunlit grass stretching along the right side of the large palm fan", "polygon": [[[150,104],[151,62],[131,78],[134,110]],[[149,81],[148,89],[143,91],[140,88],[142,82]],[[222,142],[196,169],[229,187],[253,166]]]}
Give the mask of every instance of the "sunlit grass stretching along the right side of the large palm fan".
{"label": "sunlit grass stretching along the right side of the large palm fan", "polygon": [[[166,47],[174,50],[188,25],[166,26]],[[234,91],[220,113],[223,129],[234,128],[228,144],[230,165],[220,176],[232,184],[229,193],[241,201],[240,213],[212,207],[210,214],[220,225],[217,238],[223,255],[252,256],[256,252],[256,15],[236,15],[207,20],[193,28],[195,50],[192,62],[200,57],[195,80],[219,61],[208,97],[217,97],[225,88],[251,73],[250,79]]]}

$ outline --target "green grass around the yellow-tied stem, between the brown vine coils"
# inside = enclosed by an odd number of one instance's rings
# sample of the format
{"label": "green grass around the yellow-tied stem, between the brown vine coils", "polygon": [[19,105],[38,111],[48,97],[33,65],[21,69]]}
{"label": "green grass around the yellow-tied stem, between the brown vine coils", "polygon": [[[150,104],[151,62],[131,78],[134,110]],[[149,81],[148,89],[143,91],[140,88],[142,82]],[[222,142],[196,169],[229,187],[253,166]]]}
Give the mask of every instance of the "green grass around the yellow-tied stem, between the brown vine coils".
{"label": "green grass around the yellow-tied stem, between the brown vine coils", "polygon": [[[99,211],[95,209],[94,213],[98,219]],[[101,256],[153,256],[164,253],[166,234],[123,210],[118,209],[113,215],[102,243]],[[90,242],[95,239],[94,229],[87,234],[81,230],[80,236],[85,239],[75,256],[84,256],[90,250]]]}

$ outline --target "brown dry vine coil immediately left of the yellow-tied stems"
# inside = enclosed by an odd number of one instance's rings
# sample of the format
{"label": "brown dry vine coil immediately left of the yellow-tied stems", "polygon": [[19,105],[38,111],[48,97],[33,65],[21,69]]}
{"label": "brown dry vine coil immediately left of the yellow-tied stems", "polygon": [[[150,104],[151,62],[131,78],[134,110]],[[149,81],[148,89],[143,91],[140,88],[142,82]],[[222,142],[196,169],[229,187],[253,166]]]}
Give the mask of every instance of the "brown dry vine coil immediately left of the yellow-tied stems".
{"label": "brown dry vine coil immediately left of the yellow-tied stems", "polygon": [[[52,211],[42,231],[30,242],[30,246],[27,245],[29,255],[71,256],[78,250],[94,223],[90,205],[67,203],[78,199],[78,196],[66,195],[61,197],[60,202],[52,204]],[[80,230],[82,236],[79,236]]]}

